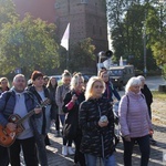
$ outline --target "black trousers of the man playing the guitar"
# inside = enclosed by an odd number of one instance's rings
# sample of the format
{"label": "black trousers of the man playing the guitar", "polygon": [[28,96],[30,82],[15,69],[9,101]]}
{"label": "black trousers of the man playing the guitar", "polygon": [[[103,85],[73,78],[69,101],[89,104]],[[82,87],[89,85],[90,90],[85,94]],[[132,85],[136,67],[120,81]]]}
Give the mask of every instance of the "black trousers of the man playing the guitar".
{"label": "black trousers of the man playing the guitar", "polygon": [[10,163],[11,166],[21,166],[20,164],[20,152],[23,152],[23,157],[27,166],[38,166],[38,156],[34,137],[27,139],[15,139],[10,146]]}

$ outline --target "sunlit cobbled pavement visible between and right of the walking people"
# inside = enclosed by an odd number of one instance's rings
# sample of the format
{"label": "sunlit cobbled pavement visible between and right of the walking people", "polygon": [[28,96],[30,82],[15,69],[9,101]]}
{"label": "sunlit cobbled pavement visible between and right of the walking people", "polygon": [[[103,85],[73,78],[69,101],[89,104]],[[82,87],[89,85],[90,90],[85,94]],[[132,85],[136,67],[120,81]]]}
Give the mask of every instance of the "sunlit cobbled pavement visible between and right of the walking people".
{"label": "sunlit cobbled pavement visible between and right of the walking people", "polygon": [[[165,100],[166,102],[166,100]],[[151,158],[148,166],[166,166],[166,106],[165,102],[154,98],[152,104],[154,139],[157,141],[156,146],[151,146]],[[61,155],[62,138],[54,137],[54,131],[49,134],[51,146],[48,146],[49,166],[73,166],[73,156],[64,157]],[[163,155],[165,160],[163,162]],[[123,166],[123,144],[122,141],[116,148],[117,166]],[[138,146],[134,147],[133,166],[139,166]],[[100,165],[98,165],[100,166]]]}

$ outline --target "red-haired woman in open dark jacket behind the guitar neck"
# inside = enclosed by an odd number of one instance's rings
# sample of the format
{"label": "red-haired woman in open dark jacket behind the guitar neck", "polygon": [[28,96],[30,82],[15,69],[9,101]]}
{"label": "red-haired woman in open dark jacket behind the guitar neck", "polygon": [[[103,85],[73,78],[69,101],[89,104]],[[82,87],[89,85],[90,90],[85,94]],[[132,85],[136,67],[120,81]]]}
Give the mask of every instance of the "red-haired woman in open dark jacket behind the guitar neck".
{"label": "red-haired woman in open dark jacket behind the guitar neck", "polygon": [[[51,101],[49,90],[44,86],[43,74],[40,71],[34,71],[31,75],[33,85],[28,87],[28,92],[33,94],[34,102],[41,104],[45,100]],[[37,142],[39,159],[41,165],[48,166],[48,156],[44,139],[50,131],[50,122],[54,117],[54,112],[51,108],[51,104],[42,107],[41,118],[35,120],[37,132],[34,133]]]}

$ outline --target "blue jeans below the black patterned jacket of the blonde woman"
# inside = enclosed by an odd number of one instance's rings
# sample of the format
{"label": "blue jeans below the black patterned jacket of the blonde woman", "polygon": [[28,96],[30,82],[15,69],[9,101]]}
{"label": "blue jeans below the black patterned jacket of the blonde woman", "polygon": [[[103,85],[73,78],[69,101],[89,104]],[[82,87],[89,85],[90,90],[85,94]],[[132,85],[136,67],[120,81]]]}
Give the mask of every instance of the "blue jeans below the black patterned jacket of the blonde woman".
{"label": "blue jeans below the black patterned jacket of the blonde woman", "polygon": [[[85,154],[86,166],[96,166],[97,157],[91,154]],[[102,158],[104,166],[115,166],[115,156],[111,155],[108,158]]]}

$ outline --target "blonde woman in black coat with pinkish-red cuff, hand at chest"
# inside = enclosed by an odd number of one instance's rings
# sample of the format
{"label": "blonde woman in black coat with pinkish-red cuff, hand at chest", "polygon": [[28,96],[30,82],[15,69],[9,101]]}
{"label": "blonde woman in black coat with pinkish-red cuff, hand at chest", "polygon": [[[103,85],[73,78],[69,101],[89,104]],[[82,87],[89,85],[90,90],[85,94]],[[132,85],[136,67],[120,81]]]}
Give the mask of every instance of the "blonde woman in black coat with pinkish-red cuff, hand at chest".
{"label": "blonde woman in black coat with pinkish-red cuff, hand at chest", "polygon": [[[82,103],[84,97],[84,80],[83,76],[80,74],[75,74],[71,80],[71,91],[66,93],[64,97],[64,104],[63,104],[63,112],[68,113],[65,123],[64,123],[64,129],[63,135],[66,136],[66,138],[73,139],[75,144],[75,155],[74,155],[74,162],[79,163],[81,166],[85,166],[85,158],[84,155],[80,152],[80,144],[82,139],[82,132],[79,127],[79,106],[80,103]],[[65,126],[71,125],[72,126],[72,133],[65,134]]]}

